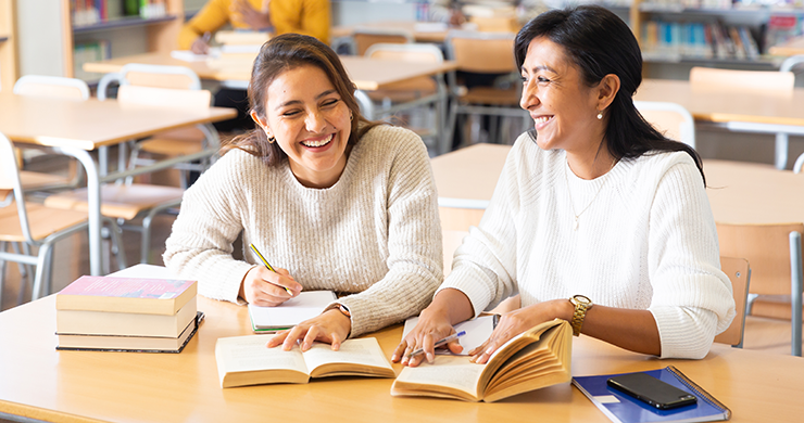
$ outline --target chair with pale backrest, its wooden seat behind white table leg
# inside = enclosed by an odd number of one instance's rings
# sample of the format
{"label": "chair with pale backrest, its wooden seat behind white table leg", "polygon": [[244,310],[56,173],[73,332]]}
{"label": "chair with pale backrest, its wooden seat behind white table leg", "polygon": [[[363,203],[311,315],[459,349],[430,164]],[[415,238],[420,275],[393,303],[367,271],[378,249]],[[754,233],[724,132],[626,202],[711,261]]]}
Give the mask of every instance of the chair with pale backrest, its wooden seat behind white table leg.
{"label": "chair with pale backrest, its wooden seat behind white table leg", "polygon": [[[209,107],[212,94],[206,90],[176,90],[124,85],[120,87],[117,101],[122,106],[150,107]],[[216,151],[210,151],[214,154]],[[142,234],[140,262],[149,262],[151,222],[159,213],[181,204],[184,189],[175,187],[133,183],[106,183],[101,185],[101,214],[123,221],[142,216],[140,226],[124,226]],[[45,200],[49,207],[87,210],[87,190],[50,195]]]}

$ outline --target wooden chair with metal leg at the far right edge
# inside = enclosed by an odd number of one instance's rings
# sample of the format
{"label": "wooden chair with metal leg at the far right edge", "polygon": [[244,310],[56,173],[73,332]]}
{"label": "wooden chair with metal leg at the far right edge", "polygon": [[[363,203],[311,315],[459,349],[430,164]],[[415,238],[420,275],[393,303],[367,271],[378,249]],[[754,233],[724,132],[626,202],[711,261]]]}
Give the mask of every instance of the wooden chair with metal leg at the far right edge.
{"label": "wooden chair with metal leg at the far right edge", "polygon": [[[746,313],[759,303],[791,306],[791,352],[802,352],[802,255],[804,223],[717,223],[720,255],[751,264]],[[782,254],[788,251],[790,254]],[[783,305],[782,305],[783,306]]]}

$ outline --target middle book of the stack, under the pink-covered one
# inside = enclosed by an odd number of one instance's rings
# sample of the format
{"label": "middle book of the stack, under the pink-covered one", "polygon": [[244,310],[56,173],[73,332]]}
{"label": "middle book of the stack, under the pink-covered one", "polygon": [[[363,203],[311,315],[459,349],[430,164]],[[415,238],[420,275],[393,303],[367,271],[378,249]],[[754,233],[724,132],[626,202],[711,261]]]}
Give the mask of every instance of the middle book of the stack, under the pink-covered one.
{"label": "middle book of the stack, under the pink-covered one", "polygon": [[118,335],[178,337],[196,318],[197,298],[173,316],[138,312],[105,312],[55,310],[55,332],[59,335]]}

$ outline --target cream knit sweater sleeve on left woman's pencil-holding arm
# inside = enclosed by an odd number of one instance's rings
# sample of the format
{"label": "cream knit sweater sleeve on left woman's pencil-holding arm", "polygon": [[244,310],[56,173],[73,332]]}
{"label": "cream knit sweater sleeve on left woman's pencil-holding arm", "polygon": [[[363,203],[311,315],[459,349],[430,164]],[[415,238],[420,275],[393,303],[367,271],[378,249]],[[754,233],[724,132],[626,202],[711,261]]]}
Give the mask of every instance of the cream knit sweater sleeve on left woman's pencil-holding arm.
{"label": "cream knit sweater sleeve on left woman's pencil-holding arm", "polygon": [[198,281],[199,294],[231,303],[238,303],[242,279],[253,267],[231,256],[243,230],[238,205],[248,204],[238,180],[247,171],[234,166],[241,163],[236,154],[247,153],[229,152],[185,192],[163,255],[173,273]]}

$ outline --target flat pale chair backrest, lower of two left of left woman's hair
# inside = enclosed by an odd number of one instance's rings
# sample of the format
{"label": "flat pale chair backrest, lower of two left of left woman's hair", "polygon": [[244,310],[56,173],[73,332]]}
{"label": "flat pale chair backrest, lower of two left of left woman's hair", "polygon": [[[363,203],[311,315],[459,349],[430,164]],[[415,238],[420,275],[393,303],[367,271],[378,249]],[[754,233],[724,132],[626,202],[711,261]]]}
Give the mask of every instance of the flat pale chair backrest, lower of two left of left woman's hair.
{"label": "flat pale chair backrest, lower of two left of left woman's hair", "polygon": [[212,101],[209,90],[180,90],[141,86],[121,86],[117,91],[121,106],[208,108]]}

